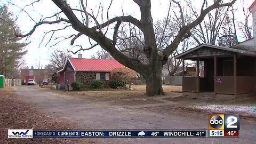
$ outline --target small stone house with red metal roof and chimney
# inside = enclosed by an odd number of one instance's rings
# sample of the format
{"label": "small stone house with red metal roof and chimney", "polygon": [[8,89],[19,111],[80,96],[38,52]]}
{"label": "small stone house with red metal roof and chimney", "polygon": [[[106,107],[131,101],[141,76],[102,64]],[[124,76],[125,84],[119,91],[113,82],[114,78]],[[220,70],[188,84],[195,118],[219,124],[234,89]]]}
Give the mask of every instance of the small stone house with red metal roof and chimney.
{"label": "small stone house with red metal roof and chimney", "polygon": [[57,83],[67,88],[76,81],[89,87],[94,80],[109,81],[110,71],[119,67],[124,66],[115,59],[84,59],[78,54],[78,58],[68,58],[65,66],[57,71]]}

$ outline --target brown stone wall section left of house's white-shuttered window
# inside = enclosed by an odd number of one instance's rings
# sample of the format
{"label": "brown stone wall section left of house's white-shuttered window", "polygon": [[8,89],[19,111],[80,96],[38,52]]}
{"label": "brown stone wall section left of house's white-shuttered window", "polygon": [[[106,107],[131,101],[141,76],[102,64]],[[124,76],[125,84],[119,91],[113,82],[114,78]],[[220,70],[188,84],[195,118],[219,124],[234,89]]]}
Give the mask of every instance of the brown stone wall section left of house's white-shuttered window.
{"label": "brown stone wall section left of house's white-shuttered window", "polygon": [[95,79],[95,71],[76,71],[76,81],[80,82],[82,87],[90,87],[92,81]]}

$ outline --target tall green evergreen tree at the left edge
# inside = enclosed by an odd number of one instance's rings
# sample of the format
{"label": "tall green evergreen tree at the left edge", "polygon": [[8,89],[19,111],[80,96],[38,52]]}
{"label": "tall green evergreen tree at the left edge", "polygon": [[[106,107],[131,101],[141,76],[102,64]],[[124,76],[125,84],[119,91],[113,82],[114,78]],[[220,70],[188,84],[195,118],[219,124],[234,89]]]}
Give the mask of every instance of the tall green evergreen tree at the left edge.
{"label": "tall green evergreen tree at the left edge", "polygon": [[20,37],[16,37],[14,31],[20,34],[20,29],[8,12],[6,6],[0,6],[0,74],[8,78],[16,78],[20,68],[25,65],[22,59],[26,54],[26,43],[19,43]]}

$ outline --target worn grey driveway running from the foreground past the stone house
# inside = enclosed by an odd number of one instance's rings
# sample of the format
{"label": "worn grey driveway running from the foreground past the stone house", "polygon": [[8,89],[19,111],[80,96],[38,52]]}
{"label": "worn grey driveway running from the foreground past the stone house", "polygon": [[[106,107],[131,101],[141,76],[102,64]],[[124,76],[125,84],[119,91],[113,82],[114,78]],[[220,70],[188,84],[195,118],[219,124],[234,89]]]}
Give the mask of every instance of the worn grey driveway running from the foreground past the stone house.
{"label": "worn grey driveway running from the foreground past the stone house", "polygon": [[[207,129],[208,115],[172,110],[161,114],[139,108],[126,108],[91,98],[34,89],[34,86],[15,87],[20,97],[49,115],[68,119],[81,129]],[[134,106],[135,107],[135,106]],[[148,138],[93,139],[98,143],[255,143],[255,119],[241,119],[240,138]],[[49,127],[51,129],[51,127]]]}

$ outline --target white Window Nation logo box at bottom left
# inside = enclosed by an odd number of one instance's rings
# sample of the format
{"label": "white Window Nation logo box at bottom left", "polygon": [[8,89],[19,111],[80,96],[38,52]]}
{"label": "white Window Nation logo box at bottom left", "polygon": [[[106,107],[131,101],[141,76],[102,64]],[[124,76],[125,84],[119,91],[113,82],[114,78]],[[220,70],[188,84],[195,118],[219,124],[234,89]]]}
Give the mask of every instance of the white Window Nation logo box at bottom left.
{"label": "white Window Nation logo box at bottom left", "polygon": [[33,130],[9,129],[8,138],[33,138]]}

